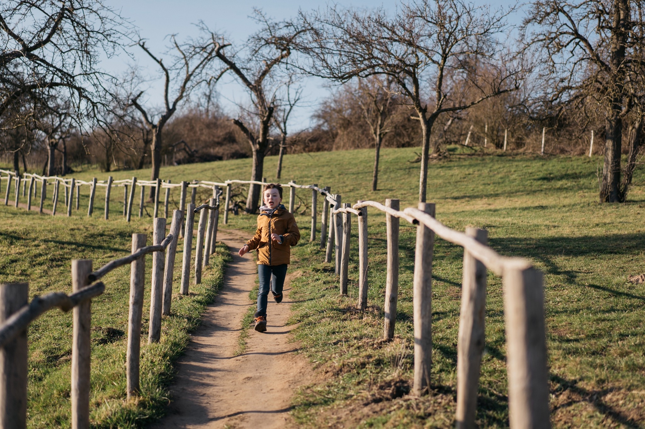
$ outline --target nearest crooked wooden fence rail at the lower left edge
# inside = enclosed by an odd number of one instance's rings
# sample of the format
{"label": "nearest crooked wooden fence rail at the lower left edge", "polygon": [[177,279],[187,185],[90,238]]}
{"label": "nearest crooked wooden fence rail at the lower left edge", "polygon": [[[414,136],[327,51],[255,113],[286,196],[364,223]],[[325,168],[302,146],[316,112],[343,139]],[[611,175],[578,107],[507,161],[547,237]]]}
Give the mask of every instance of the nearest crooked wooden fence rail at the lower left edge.
{"label": "nearest crooked wooden fence rail at the lower left edge", "polygon": [[67,295],[64,292],[52,292],[43,297],[34,297],[28,306],[24,306],[19,311],[16,311],[0,327],[0,349],[5,347],[6,343],[13,340],[17,334],[26,329],[29,324],[34,322],[34,320],[46,311],[54,307],[59,307],[67,313],[77,306],[79,302],[98,297],[104,291],[105,285],[103,282],[97,282],[92,284],[92,286],[72,293],[72,295]]}

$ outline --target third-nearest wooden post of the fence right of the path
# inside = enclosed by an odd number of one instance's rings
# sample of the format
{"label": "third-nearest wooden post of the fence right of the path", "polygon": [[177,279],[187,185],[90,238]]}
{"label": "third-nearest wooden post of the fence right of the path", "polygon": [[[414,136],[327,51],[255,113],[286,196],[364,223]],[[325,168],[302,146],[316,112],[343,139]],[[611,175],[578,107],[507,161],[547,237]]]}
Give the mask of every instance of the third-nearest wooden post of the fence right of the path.
{"label": "third-nearest wooden post of the fence right of the path", "polygon": [[[419,210],[435,216],[433,203],[419,203]],[[416,396],[428,392],[432,370],[432,257],[435,233],[419,224],[414,256],[413,322],[414,383]]]}

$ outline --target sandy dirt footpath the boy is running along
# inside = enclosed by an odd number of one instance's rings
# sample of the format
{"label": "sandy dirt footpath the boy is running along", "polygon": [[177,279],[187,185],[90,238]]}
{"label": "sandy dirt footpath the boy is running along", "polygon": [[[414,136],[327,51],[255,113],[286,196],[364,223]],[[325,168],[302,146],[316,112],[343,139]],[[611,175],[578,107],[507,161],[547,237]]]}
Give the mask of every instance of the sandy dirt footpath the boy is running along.
{"label": "sandy dirt footpath the boy is running along", "polygon": [[[289,342],[290,286],[284,300],[269,298],[266,333],[250,330],[246,352],[233,356],[241,319],[249,306],[257,266],[251,254],[239,257],[246,241],[236,230],[220,230],[217,239],[233,254],[224,286],[203,316],[186,354],[179,360],[168,415],[155,428],[285,428],[293,392],[312,379],[304,356]],[[288,277],[287,277],[288,280]]]}

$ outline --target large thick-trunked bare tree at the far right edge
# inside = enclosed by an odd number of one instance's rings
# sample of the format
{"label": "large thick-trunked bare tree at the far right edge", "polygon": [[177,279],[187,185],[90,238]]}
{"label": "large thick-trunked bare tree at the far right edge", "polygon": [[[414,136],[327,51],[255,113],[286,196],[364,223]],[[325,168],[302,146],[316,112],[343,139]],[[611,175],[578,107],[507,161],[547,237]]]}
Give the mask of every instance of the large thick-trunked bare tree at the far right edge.
{"label": "large thick-trunked bare tree at the far right edge", "polygon": [[[645,72],[645,2],[590,0],[534,1],[523,24],[526,44],[539,48],[541,77],[551,100],[604,109],[604,165],[600,202],[624,201],[633,164],[621,182],[620,154],[624,122],[639,105]],[[631,136],[640,136],[642,116],[632,115]],[[633,143],[633,144],[631,144]],[[640,138],[631,141],[635,160]]]}

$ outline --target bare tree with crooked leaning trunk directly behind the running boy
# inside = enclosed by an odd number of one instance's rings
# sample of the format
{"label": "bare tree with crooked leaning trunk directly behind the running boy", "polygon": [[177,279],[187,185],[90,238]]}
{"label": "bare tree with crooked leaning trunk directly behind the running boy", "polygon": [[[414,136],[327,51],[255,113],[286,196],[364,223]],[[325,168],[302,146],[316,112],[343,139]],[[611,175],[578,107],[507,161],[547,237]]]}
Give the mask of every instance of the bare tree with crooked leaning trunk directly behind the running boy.
{"label": "bare tree with crooked leaning trunk directly behind the running boy", "polygon": [[[262,24],[259,32],[251,35],[243,50],[225,53],[225,44],[217,44],[217,57],[233,72],[250,96],[248,113],[254,118],[255,127],[243,118],[233,123],[243,132],[251,146],[253,165],[251,180],[261,181],[264,157],[271,149],[270,127],[278,104],[275,91],[279,87],[279,66],[291,54],[291,45],[300,31],[290,23],[275,23],[261,12],[255,11],[255,19]],[[272,89],[273,88],[273,89]],[[250,185],[246,199],[246,212],[255,213],[260,199],[259,185]]]}

